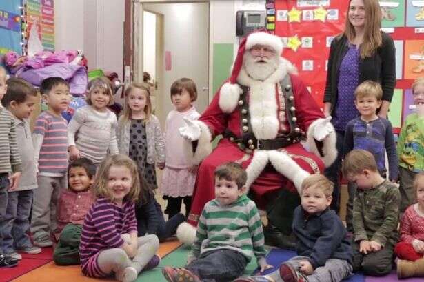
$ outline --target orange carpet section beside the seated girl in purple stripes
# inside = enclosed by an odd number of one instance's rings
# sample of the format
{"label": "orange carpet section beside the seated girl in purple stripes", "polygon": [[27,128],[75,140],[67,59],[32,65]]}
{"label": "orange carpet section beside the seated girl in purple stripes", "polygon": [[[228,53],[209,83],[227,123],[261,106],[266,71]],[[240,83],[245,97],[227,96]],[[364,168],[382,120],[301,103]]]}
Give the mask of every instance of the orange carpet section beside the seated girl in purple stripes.
{"label": "orange carpet section beside the seated girl in purple stripes", "polygon": [[[176,248],[178,248],[181,243],[174,239],[173,241],[167,241],[161,243],[159,246],[158,255],[163,257]],[[51,258],[51,255],[50,255]],[[51,259],[50,259],[51,260]],[[46,262],[45,262],[46,263]],[[22,276],[19,276],[17,279],[14,279],[14,282],[85,282],[85,281],[100,281],[99,279],[92,279],[81,274],[81,268],[79,265],[72,266],[57,266],[54,262],[50,262],[43,266],[36,268]],[[19,266],[18,266],[19,267]],[[18,268],[17,267],[17,268]],[[25,273],[25,272],[24,272]],[[11,278],[3,280],[3,274],[0,270],[0,281],[10,281]],[[14,276],[16,277],[16,275]],[[13,277],[12,277],[13,279]],[[114,281],[112,279],[101,279],[101,281]]]}

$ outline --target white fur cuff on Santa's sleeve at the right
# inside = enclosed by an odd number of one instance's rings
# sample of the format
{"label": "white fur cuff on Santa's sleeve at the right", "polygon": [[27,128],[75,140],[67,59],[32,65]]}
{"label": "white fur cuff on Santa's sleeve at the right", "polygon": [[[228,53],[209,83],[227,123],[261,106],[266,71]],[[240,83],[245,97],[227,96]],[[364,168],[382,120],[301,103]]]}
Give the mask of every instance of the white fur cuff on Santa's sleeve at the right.
{"label": "white fur cuff on Santa's sleeve at the right", "polygon": [[316,156],[320,157],[321,160],[324,162],[325,168],[328,168],[337,157],[337,150],[336,150],[336,131],[333,130],[325,139],[323,140],[323,156],[321,156],[318,148],[316,147],[315,139],[314,139],[314,128],[318,123],[321,123],[324,119],[316,119],[313,123],[309,125],[309,128],[307,128],[307,134],[306,134],[306,148],[310,152],[313,152],[316,154]]}

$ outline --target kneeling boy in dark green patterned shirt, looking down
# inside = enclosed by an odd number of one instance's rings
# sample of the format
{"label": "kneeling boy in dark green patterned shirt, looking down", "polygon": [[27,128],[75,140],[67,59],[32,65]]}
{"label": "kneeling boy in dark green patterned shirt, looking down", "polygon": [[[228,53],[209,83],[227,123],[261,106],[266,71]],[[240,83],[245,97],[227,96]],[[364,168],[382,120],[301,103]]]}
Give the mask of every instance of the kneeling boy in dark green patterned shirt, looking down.
{"label": "kneeling boy in dark green patterned shirt, looking down", "polygon": [[383,276],[392,271],[398,239],[399,190],[378,172],[374,156],[352,150],[342,165],[343,175],[356,184],[353,211],[354,271]]}

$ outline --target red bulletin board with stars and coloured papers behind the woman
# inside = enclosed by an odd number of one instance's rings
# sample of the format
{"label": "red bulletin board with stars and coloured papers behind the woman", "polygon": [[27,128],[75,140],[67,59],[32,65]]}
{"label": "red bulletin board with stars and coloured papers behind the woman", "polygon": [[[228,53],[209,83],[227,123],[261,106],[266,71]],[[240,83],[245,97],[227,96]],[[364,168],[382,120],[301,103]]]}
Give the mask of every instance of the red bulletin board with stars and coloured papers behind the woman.
{"label": "red bulletin board with stars and coloured papers behind the woman", "polygon": [[[407,114],[414,110],[410,86],[424,76],[424,1],[379,1],[382,29],[394,39],[396,89],[389,119],[398,132]],[[327,76],[332,39],[343,32],[349,0],[266,1],[267,29],[281,37],[287,57],[299,70],[319,105]]]}

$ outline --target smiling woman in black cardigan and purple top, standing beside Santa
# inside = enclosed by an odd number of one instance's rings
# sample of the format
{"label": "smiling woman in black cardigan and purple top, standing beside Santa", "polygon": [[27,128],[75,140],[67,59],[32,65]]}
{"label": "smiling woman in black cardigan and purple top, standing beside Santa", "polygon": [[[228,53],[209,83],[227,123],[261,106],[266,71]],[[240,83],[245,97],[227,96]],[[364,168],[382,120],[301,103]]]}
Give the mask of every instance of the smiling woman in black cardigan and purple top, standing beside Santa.
{"label": "smiling woman in black cardigan and purple top, standing beside Santa", "polygon": [[381,8],[378,0],[350,0],[345,32],[335,37],[330,47],[324,114],[332,116],[339,157],[325,170],[334,182],[332,208],[339,211],[339,169],[347,122],[359,116],[354,105],[354,90],[365,80],[381,83],[383,103],[378,112],[387,117],[396,83],[393,39],[381,32]]}

